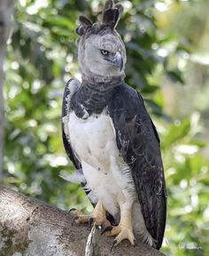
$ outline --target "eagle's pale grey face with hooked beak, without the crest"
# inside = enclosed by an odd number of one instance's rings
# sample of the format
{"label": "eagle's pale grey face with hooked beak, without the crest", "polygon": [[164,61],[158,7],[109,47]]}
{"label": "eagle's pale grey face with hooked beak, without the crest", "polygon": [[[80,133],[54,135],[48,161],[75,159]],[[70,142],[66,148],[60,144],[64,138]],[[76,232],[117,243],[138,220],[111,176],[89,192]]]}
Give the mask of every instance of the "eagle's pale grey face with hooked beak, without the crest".
{"label": "eagle's pale grey face with hooked beak, without the crest", "polygon": [[107,35],[91,35],[79,51],[81,71],[96,76],[121,76],[124,74],[126,50],[120,36],[114,32]]}

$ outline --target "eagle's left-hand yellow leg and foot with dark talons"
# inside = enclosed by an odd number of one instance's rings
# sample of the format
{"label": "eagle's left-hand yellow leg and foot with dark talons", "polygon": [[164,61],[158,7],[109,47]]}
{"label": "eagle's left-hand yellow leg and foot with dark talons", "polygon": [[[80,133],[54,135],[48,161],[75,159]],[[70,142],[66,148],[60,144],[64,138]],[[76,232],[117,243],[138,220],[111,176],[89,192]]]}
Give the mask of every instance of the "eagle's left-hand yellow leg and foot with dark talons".
{"label": "eagle's left-hand yellow leg and foot with dark talons", "polygon": [[89,223],[89,225],[91,226],[91,224],[94,222],[97,225],[102,226],[103,228],[111,226],[110,222],[106,220],[106,210],[101,201],[97,202],[93,212],[91,212],[89,215],[86,215],[76,209],[72,209],[70,212],[73,212],[74,214],[75,223]]}

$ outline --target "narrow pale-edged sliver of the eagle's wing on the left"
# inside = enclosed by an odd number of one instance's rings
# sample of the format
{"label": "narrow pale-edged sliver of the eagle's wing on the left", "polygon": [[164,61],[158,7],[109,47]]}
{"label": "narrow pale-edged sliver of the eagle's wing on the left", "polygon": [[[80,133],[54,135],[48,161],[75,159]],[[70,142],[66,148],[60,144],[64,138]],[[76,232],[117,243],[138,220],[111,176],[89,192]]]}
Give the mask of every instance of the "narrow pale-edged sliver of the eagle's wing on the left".
{"label": "narrow pale-edged sliver of the eagle's wing on the left", "polygon": [[[76,84],[77,83],[77,84]],[[71,148],[69,141],[69,134],[66,124],[68,123],[68,117],[70,112],[70,99],[76,89],[79,88],[79,81],[76,79],[70,79],[66,83],[66,88],[63,94],[62,102],[62,139],[64,148],[66,149],[66,154],[69,156],[70,160],[73,162],[76,170],[81,170],[81,163],[78,158],[75,156],[73,149]]]}

